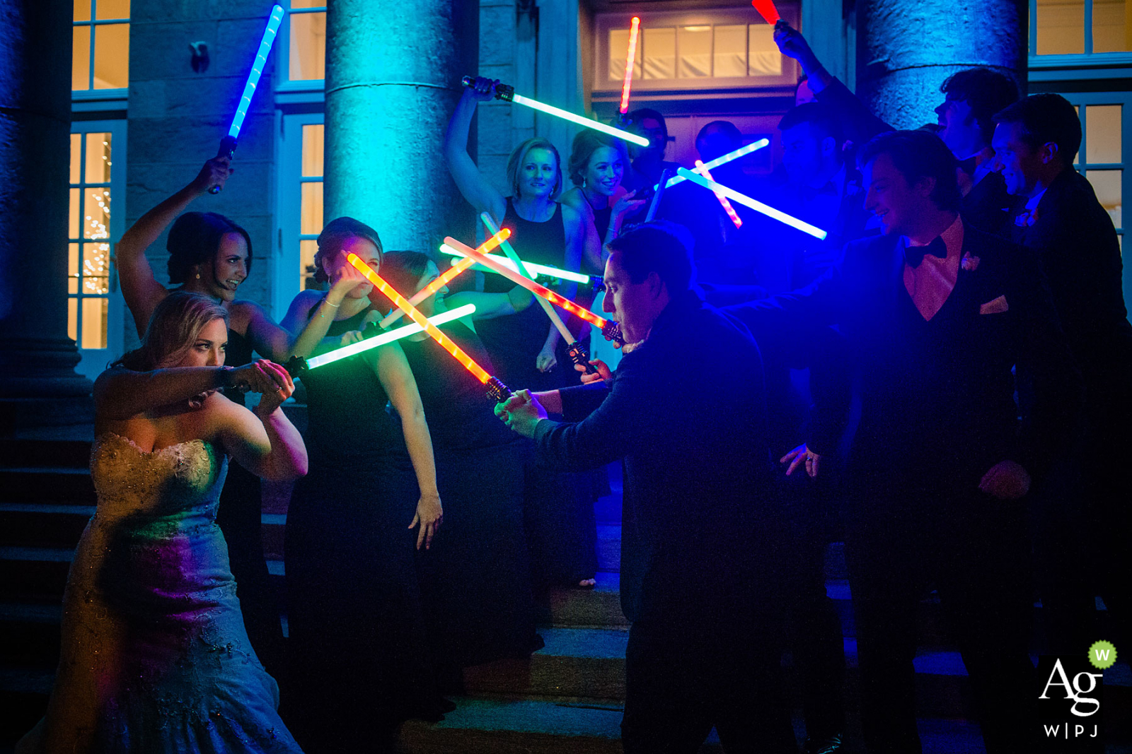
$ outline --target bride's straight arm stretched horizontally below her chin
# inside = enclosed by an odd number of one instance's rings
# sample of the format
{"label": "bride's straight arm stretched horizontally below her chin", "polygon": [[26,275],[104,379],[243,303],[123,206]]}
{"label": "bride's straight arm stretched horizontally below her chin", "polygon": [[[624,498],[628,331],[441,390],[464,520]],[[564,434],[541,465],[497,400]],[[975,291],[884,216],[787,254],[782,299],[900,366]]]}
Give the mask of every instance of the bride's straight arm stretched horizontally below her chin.
{"label": "bride's straight arm stretched horizontally below her chin", "polygon": [[189,400],[209,390],[248,384],[257,392],[268,388],[255,364],[230,366],[174,366],[135,372],[114,366],[94,381],[98,421],[128,419],[144,411]]}

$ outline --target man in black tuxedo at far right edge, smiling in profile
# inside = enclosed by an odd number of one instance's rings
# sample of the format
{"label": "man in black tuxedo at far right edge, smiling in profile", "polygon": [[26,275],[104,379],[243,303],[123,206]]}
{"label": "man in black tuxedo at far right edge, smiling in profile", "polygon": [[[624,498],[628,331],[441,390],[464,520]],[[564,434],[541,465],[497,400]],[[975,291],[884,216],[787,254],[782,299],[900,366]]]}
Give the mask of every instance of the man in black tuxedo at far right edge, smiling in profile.
{"label": "man in black tuxedo at far right edge, smiling in profile", "polygon": [[1014,241],[1045,267],[1084,380],[1086,436],[1078,473],[1062,480],[1060,493],[1050,491],[1037,521],[1039,586],[1053,649],[1081,652],[1097,639],[1120,643],[1097,632],[1097,593],[1127,644],[1132,482],[1122,461],[1132,451],[1132,324],[1120,243],[1089,181],[1073,170],[1081,122],[1072,104],[1038,94],[1006,107],[995,121],[994,146],[1006,188],[1026,202],[1011,228]]}

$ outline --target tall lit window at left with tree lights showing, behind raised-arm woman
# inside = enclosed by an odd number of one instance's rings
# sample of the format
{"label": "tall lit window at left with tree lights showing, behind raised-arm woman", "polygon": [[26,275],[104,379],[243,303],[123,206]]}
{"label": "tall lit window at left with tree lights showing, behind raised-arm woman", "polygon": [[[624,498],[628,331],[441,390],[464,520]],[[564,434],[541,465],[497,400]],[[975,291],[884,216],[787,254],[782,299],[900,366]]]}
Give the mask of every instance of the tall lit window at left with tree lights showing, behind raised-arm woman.
{"label": "tall lit window at left with tree lights showing, behind raised-arm woman", "polygon": [[106,348],[113,132],[70,137],[67,333],[79,348]]}

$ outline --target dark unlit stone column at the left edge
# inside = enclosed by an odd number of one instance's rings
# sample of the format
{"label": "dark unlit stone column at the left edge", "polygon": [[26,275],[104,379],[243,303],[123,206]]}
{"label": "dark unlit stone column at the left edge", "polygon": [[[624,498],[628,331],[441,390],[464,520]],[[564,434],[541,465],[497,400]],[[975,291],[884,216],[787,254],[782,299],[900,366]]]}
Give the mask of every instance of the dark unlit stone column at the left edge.
{"label": "dark unlit stone column at the left edge", "polygon": [[0,433],[92,421],[67,337],[71,7],[0,15]]}

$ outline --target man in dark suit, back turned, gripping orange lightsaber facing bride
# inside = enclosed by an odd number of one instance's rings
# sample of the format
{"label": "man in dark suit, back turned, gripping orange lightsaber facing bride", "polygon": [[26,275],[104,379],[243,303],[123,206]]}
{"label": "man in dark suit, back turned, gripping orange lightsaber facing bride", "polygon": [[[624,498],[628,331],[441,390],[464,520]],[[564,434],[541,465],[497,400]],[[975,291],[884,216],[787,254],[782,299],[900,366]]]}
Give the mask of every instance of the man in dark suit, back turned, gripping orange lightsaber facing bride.
{"label": "man in dark suit, back turned, gripping orange lightsaber facing bride", "polygon": [[689,289],[686,236],[660,222],[609,244],[604,309],[631,345],[608,388],[521,391],[496,413],[563,469],[624,459],[625,751],[692,754],[715,726],[729,751],[796,752],[762,364],[746,328]]}

